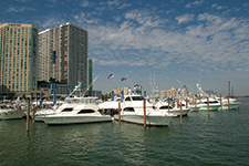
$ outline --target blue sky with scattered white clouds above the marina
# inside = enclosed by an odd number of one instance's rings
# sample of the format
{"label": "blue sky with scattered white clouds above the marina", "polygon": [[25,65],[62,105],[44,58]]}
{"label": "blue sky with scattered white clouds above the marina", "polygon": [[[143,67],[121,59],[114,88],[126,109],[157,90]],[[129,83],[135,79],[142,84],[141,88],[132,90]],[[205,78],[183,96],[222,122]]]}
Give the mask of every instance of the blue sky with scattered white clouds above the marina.
{"label": "blue sky with scattered white clouds above the marina", "polygon": [[[248,0],[1,0],[0,22],[89,32],[94,90],[199,84],[249,94]],[[108,79],[110,74],[114,77]],[[123,76],[127,80],[121,81]]]}

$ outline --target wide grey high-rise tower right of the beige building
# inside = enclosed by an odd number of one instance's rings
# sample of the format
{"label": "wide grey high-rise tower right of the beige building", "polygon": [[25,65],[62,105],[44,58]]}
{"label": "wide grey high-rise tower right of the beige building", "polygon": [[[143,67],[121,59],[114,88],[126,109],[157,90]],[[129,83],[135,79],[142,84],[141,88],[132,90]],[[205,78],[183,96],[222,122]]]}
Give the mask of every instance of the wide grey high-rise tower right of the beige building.
{"label": "wide grey high-rise tower right of the beige building", "polygon": [[71,23],[39,33],[38,81],[87,87],[87,31]]}

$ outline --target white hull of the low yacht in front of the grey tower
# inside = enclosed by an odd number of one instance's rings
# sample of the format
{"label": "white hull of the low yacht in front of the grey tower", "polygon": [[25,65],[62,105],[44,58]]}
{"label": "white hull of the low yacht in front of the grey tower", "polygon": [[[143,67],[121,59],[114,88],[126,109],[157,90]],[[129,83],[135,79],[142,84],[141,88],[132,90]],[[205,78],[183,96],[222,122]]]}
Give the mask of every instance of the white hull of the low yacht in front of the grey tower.
{"label": "white hull of the low yacht in front of the grey tower", "polygon": [[49,115],[40,116],[40,121],[43,121],[48,125],[63,125],[63,124],[80,124],[80,123],[100,123],[111,122],[111,116],[58,116]]}

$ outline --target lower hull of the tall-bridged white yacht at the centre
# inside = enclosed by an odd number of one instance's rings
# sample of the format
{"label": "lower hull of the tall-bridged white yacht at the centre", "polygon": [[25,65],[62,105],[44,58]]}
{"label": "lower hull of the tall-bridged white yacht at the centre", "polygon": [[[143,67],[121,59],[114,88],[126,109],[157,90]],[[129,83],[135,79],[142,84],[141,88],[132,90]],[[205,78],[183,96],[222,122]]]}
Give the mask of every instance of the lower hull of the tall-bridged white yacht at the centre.
{"label": "lower hull of the tall-bridged white yacht at the centre", "polygon": [[[118,115],[114,115],[118,120]],[[168,126],[173,116],[146,116],[146,125],[149,126]],[[135,124],[144,124],[144,115],[121,115],[121,121]]]}

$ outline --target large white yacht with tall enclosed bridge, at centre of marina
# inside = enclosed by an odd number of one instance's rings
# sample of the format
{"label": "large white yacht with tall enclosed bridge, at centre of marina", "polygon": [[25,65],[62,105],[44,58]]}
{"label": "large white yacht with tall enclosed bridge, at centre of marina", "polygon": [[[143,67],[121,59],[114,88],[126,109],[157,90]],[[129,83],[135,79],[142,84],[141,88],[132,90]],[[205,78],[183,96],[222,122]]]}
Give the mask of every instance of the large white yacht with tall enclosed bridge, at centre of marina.
{"label": "large white yacht with tall enclosed bridge, at centre of marina", "polygon": [[[167,126],[172,122],[172,118],[176,116],[174,114],[154,110],[153,104],[147,101],[145,104],[146,125]],[[144,97],[142,95],[126,95],[121,106],[121,121],[144,124]],[[114,118],[118,120],[118,115],[114,115]]]}

